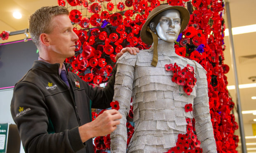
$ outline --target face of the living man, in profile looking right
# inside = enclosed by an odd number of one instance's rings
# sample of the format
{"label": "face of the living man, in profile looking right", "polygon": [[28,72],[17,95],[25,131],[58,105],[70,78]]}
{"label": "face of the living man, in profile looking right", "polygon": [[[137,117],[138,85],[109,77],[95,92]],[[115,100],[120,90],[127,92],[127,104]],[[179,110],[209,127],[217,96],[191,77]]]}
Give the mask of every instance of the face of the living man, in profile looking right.
{"label": "face of the living man, in profile looking right", "polygon": [[54,16],[50,26],[52,30],[47,35],[50,41],[51,55],[64,59],[74,56],[75,42],[78,40],[78,36],[73,32],[69,16],[66,14]]}

